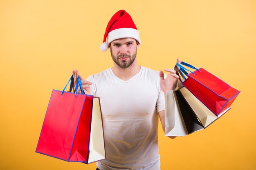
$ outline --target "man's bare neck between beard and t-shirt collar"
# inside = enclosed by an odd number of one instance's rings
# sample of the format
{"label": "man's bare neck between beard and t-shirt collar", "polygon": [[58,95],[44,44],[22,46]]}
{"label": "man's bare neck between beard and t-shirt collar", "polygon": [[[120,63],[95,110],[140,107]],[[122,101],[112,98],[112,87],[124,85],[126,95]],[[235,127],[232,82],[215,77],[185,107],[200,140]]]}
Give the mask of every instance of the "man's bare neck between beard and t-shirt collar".
{"label": "man's bare neck between beard and t-shirt collar", "polygon": [[138,65],[137,63],[137,58],[135,58],[134,62],[132,63],[132,65],[130,65],[130,67],[128,68],[121,68],[119,67],[115,62],[114,62],[114,66],[112,67],[112,71],[113,73],[119,78],[122,79],[124,81],[132,78],[134,75],[136,75],[137,73],[139,73],[141,66]]}

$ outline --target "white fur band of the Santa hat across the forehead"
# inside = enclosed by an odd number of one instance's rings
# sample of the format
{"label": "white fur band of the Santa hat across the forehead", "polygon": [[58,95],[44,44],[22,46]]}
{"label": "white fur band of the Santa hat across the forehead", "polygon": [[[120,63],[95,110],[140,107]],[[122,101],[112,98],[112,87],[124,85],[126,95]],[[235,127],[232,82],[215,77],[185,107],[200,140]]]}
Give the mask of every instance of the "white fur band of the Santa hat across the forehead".
{"label": "white fur band of the Santa hat across the forehead", "polygon": [[121,28],[121,29],[114,29],[108,33],[108,44],[114,40],[119,38],[134,38],[141,44],[139,38],[139,31],[137,29],[132,28]]}

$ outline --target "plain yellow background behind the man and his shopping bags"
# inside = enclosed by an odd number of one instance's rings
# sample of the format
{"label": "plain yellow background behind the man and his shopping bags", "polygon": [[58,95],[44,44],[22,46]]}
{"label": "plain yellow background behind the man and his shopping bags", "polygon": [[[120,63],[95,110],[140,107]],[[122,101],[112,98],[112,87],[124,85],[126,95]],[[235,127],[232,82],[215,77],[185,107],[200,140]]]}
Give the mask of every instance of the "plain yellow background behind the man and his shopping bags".
{"label": "plain yellow background behind the man and his shopping bags", "polygon": [[159,126],[161,169],[256,168],[255,0],[0,0],[0,169],[94,170],[35,153],[52,89],[72,69],[112,66],[99,45],[125,9],[140,31],[139,64],[163,70],[177,57],[241,91],[207,129],[172,140]]}

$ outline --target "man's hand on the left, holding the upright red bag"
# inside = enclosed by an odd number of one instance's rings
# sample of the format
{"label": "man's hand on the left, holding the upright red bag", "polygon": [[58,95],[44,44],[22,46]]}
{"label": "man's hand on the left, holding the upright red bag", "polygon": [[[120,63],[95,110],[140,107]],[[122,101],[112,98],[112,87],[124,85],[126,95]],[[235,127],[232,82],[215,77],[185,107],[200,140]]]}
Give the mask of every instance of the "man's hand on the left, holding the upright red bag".
{"label": "man's hand on the left, holding the upright red bag", "polygon": [[[79,76],[81,79],[81,82],[82,82],[83,91],[85,92],[85,94],[90,95],[90,93],[91,93],[90,85],[92,84],[92,82],[89,82],[89,81],[83,79],[83,77],[81,75],[79,75],[78,70],[73,70],[72,73],[73,73],[73,78],[74,78],[74,87],[76,86],[77,79]],[[78,86],[77,93],[81,93],[81,89],[79,86]]]}

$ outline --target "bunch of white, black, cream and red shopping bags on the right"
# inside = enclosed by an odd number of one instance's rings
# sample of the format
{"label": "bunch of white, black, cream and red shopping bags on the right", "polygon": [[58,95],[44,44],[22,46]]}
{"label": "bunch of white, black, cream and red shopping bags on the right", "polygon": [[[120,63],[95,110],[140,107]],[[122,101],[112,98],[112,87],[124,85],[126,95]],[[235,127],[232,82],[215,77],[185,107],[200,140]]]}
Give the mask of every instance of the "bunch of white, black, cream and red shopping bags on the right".
{"label": "bunch of white, black, cream and red shopping bags on the right", "polygon": [[203,68],[185,62],[176,65],[184,81],[177,90],[166,92],[165,136],[185,136],[206,128],[231,108],[240,93]]}

